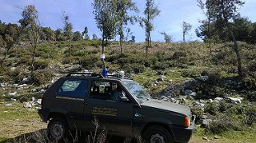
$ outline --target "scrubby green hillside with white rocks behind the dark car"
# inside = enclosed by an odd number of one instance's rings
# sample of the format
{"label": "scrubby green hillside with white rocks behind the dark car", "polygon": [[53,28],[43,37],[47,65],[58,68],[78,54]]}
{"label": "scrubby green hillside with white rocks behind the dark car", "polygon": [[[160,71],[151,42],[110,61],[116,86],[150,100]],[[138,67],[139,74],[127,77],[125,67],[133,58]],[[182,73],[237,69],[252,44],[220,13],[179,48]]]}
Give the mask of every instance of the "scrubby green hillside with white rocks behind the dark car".
{"label": "scrubby green hillside with white rocks behind the dark car", "polygon": [[[1,116],[4,120],[0,125],[7,128],[1,130],[0,141],[1,137],[13,138],[32,132],[27,122],[40,122],[36,115],[36,108],[40,106],[38,99],[58,77],[74,71],[101,73],[100,43],[72,42],[70,57],[67,42],[42,42],[36,51],[32,76],[32,48],[26,43],[14,46],[6,61],[1,62],[0,110],[2,115],[12,113],[12,117],[25,121],[22,125],[28,129],[19,132],[9,123],[12,121],[9,116]],[[108,73],[124,70],[127,77],[138,81],[152,97],[190,106],[197,115],[195,141],[215,134],[229,140],[233,135],[241,138],[242,134],[251,132],[246,141],[253,142],[256,134],[256,46],[238,43],[245,77],[238,77],[232,46],[226,42],[212,45],[209,50],[202,42],[153,42],[146,56],[144,43],[126,42],[124,54],[120,54],[118,42],[110,42],[105,49],[106,68]],[[3,50],[0,54],[3,55]],[[34,99],[33,104],[31,99]],[[26,106],[27,102],[31,107]],[[20,119],[20,114],[26,112],[32,115]],[[199,128],[200,125],[203,128]],[[46,125],[41,127],[46,128]]]}

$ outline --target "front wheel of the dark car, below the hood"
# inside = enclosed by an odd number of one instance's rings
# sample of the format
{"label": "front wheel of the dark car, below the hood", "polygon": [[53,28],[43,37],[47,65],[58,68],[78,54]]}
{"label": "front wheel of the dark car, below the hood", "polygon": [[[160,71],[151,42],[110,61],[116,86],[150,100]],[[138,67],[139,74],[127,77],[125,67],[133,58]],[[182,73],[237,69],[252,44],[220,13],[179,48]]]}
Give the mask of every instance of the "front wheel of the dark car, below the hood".
{"label": "front wheel of the dark car, below the hood", "polygon": [[142,134],[146,143],[174,143],[170,131],[162,125],[151,125]]}

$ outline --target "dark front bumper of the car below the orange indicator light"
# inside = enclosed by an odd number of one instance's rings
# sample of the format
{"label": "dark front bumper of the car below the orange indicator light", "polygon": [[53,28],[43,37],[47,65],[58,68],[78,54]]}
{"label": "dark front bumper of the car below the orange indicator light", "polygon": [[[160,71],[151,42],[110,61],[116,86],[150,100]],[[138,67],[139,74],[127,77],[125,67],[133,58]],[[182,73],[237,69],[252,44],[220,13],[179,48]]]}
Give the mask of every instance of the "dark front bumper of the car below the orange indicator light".
{"label": "dark front bumper of the car below the orange indicator light", "polygon": [[[195,117],[194,117],[195,118]],[[185,128],[179,125],[169,125],[170,129],[174,135],[175,142],[188,142],[190,141],[190,137],[194,132],[194,120],[191,121],[189,127]]]}

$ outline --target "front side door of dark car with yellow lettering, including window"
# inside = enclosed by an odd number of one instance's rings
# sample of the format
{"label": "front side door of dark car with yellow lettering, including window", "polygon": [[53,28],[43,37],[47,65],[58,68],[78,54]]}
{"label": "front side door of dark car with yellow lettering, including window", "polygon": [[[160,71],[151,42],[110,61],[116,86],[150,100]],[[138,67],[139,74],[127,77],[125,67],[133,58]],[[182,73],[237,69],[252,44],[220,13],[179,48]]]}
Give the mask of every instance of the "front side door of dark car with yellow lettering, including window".
{"label": "front side door of dark car with yellow lettering, including window", "polygon": [[115,89],[119,89],[120,96],[126,96],[117,81],[91,81],[90,95],[85,101],[86,124],[90,124],[91,129],[95,128],[92,122],[95,117],[98,128],[106,129],[108,133],[132,133],[134,104],[113,95]]}

